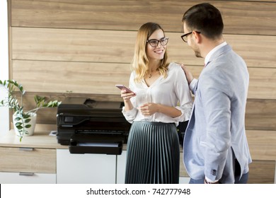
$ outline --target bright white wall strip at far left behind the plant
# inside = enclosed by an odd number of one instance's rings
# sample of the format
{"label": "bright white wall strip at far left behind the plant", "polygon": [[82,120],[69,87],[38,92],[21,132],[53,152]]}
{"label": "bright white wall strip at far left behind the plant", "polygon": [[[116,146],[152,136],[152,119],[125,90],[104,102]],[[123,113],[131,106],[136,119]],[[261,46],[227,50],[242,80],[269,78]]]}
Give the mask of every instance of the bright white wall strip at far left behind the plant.
{"label": "bright white wall strip at far left behind the plant", "polygon": [[[8,7],[7,1],[0,1],[0,79],[8,79]],[[0,100],[6,97],[6,92],[0,88]],[[0,136],[8,132],[8,108],[0,107]]]}

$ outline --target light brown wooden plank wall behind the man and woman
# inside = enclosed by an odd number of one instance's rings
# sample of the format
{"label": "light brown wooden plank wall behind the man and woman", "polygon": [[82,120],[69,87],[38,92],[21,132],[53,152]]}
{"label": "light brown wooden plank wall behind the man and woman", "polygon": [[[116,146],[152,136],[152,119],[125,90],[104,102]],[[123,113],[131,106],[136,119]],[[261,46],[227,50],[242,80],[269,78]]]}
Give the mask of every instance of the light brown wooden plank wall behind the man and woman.
{"label": "light brown wooden plank wall behind the man and woman", "polygon": [[[72,91],[77,97],[120,101],[115,84],[128,84],[137,30],[162,25],[172,62],[195,76],[196,58],[180,35],[183,13],[204,1],[8,0],[10,78],[33,95]],[[209,1],[222,11],[224,38],[245,59],[250,74],[246,129],[276,136],[276,1]],[[38,123],[54,124],[56,110],[41,110]],[[276,152],[276,151],[275,151]],[[258,159],[256,159],[258,160]]]}

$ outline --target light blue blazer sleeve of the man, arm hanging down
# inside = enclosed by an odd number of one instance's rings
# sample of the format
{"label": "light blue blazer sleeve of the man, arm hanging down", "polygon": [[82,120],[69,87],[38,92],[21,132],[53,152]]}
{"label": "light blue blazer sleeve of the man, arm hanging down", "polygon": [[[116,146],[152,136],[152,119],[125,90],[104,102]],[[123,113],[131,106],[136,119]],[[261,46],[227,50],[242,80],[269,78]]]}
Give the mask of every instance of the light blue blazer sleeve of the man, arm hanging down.
{"label": "light blue blazer sleeve of the man, arm hanging down", "polygon": [[231,86],[225,86],[221,71],[202,77],[200,97],[207,122],[205,144],[205,177],[214,181],[222,177],[231,146]]}

